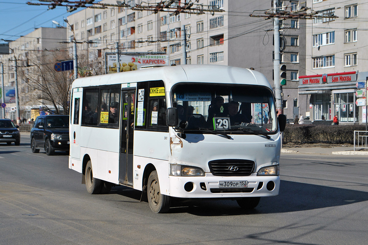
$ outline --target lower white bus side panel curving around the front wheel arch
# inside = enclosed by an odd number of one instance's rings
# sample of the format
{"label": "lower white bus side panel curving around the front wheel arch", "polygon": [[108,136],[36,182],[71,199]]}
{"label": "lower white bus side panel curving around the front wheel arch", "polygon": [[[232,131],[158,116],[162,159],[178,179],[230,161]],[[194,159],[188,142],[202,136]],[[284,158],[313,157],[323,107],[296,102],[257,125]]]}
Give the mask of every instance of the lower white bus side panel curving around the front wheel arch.
{"label": "lower white bus side panel curving around the front wheel arch", "polygon": [[[160,182],[160,192],[169,195],[169,161],[149,157],[133,156],[133,188],[142,191],[143,173],[147,164],[155,166]],[[141,168],[138,168],[140,165]],[[148,178],[148,177],[147,177]]]}

